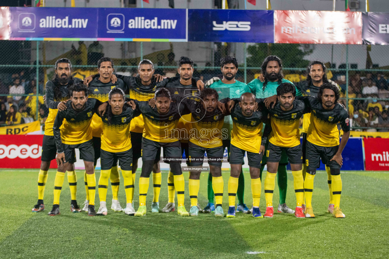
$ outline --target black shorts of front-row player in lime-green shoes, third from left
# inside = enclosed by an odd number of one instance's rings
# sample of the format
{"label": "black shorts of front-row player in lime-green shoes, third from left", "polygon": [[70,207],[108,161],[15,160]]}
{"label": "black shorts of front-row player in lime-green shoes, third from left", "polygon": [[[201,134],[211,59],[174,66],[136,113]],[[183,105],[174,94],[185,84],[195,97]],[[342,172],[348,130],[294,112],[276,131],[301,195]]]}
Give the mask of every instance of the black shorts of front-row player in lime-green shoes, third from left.
{"label": "black shorts of front-row player in lime-green shoes, third from left", "polygon": [[142,161],[154,160],[154,163],[159,162],[161,157],[161,148],[163,155],[166,158],[174,158],[177,161],[181,158],[180,141],[174,142],[157,142],[150,139],[142,138]]}

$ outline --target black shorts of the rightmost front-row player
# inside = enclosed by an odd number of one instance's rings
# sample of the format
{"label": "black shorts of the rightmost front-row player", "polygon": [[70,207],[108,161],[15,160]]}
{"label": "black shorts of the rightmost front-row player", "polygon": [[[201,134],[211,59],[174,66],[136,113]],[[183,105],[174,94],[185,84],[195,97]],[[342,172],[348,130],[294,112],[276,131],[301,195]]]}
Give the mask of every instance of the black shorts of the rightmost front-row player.
{"label": "black shorts of the rightmost front-row player", "polygon": [[315,144],[307,141],[307,150],[306,150],[306,158],[305,164],[307,165],[307,170],[317,169],[320,166],[320,158],[321,161],[327,165],[329,168],[340,169],[340,165],[336,163],[335,160],[331,160],[331,158],[338,152],[338,146],[332,147],[323,147],[317,146]]}

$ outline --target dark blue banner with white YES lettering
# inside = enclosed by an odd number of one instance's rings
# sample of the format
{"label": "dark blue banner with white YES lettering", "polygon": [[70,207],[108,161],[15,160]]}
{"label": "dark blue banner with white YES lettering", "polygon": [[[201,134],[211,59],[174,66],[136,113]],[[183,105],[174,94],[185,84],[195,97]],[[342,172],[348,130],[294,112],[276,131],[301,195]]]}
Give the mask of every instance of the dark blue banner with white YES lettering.
{"label": "dark blue banner with white YES lettering", "polygon": [[188,41],[274,42],[272,10],[188,10]]}

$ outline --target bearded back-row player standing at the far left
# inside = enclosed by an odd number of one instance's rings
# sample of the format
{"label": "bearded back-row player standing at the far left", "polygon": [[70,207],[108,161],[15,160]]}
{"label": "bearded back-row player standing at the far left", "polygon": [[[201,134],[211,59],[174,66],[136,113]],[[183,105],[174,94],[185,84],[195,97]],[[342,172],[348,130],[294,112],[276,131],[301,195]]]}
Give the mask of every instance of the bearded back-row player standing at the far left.
{"label": "bearded back-row player standing at the far left", "polygon": [[[51,160],[55,159],[57,148],[55,146],[53,124],[55,116],[58,110],[62,111],[66,109],[66,100],[68,99],[68,88],[74,83],[79,83],[79,78],[73,78],[71,76],[72,63],[69,59],[58,59],[54,66],[54,78],[46,83],[46,103],[49,106],[49,115],[45,122],[45,133],[42,143],[42,163],[40,164],[40,170],[38,175],[38,202],[32,208],[32,212],[40,212],[45,209],[43,196],[47,181],[47,172],[50,168]],[[70,195],[72,201],[70,203],[70,211],[81,211],[77,205],[76,193],[77,193],[77,176],[74,170],[75,153],[72,155],[67,167],[58,167],[56,178],[64,178],[65,172],[68,170],[68,181],[70,188]],[[56,191],[54,190],[54,194]],[[55,202],[59,202],[59,196],[54,195]]]}

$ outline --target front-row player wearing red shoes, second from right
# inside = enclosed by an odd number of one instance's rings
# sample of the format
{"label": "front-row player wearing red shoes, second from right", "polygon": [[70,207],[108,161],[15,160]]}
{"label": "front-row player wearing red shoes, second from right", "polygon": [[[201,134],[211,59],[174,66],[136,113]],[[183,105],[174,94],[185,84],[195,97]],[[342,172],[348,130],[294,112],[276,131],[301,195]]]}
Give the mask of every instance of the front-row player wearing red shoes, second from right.
{"label": "front-row player wearing red shoes, second from right", "polygon": [[269,109],[271,126],[268,148],[265,151],[267,158],[267,173],[265,178],[266,213],[264,217],[273,217],[274,179],[277,174],[282,151],[291,163],[294,192],[296,193],[296,217],[305,217],[301,205],[303,203],[304,180],[302,173],[302,153],[300,145],[300,118],[309,112],[303,101],[295,100],[296,87],[293,83],[281,83],[277,87],[278,103]]}

